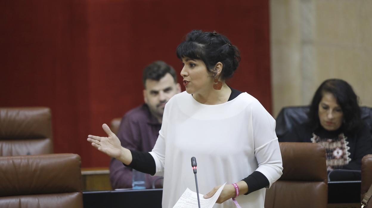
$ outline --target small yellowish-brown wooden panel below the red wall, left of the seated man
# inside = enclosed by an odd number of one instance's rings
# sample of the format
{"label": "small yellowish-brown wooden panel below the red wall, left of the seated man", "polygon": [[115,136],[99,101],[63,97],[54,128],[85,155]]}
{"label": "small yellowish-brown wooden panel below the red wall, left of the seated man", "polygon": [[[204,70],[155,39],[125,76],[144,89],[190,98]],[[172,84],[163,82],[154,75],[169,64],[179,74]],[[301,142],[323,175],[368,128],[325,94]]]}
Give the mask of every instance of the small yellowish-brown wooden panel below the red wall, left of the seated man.
{"label": "small yellowish-brown wooden panel below the red wall, left of the seated man", "polygon": [[108,167],[89,167],[81,169],[83,191],[109,191],[110,170]]}

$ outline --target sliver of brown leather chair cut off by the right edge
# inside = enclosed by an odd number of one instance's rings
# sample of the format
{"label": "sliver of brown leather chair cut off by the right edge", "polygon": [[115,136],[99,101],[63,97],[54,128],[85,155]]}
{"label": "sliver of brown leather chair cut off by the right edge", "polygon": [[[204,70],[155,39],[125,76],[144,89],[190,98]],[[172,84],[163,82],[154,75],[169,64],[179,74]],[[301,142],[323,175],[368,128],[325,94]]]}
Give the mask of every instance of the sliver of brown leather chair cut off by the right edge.
{"label": "sliver of brown leather chair cut off by the right edge", "polygon": [[[368,154],[362,159],[362,184],[360,189],[360,201],[364,198],[367,193],[369,186],[372,184],[372,154]],[[372,199],[368,201],[365,208],[372,208]]]}

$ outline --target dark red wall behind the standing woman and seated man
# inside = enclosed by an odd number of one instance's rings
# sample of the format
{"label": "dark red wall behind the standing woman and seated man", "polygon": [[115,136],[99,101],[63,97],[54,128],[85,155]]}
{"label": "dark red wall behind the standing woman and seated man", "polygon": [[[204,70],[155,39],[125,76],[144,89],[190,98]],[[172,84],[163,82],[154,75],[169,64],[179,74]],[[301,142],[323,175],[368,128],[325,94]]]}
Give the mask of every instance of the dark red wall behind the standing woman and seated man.
{"label": "dark red wall behind the standing woman and seated man", "polygon": [[[164,60],[192,29],[216,30],[241,51],[230,85],[271,111],[268,1],[0,1],[0,106],[52,109],[55,153],[108,166],[86,141],[143,102],[142,68]],[[183,88],[184,90],[184,88]]]}

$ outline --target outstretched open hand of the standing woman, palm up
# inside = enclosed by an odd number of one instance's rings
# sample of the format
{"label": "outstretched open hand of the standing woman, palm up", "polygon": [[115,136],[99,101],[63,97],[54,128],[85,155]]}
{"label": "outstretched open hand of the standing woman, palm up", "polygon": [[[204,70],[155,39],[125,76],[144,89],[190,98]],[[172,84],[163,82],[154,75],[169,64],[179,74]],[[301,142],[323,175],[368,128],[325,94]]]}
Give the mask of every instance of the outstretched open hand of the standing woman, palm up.
{"label": "outstretched open hand of the standing woman, palm up", "polygon": [[87,141],[92,143],[92,146],[97,150],[108,156],[114,157],[124,164],[130,164],[132,162],[131,151],[121,146],[119,138],[111,131],[107,124],[103,124],[102,128],[108,137],[88,135]]}

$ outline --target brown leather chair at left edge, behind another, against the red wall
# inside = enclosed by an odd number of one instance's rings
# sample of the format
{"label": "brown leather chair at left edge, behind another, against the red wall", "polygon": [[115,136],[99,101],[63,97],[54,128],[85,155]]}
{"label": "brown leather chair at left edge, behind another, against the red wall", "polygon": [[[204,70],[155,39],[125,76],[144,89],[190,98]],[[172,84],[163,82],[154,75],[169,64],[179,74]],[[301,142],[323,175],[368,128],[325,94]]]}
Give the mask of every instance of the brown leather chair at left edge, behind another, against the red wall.
{"label": "brown leather chair at left edge, behind another, against the red wall", "polygon": [[49,108],[0,108],[0,156],[53,153]]}

